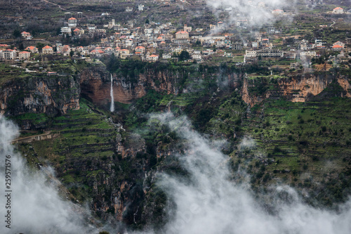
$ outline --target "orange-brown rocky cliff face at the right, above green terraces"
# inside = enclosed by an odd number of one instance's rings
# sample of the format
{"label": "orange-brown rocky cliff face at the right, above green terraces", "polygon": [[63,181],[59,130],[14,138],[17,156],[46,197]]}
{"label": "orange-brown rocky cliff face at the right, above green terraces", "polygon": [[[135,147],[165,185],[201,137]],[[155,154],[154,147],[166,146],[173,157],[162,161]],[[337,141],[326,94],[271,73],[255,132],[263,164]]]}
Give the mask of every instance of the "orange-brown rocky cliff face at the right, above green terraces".
{"label": "orange-brown rocky cliff face at the right, above green terraces", "polygon": [[[262,79],[244,78],[241,96],[245,103],[253,105],[262,102],[265,98],[286,98],[292,102],[305,102],[306,100],[322,93],[330,84],[336,82],[342,91],[336,93],[341,97],[351,97],[351,85],[348,78],[333,74],[302,74],[289,78],[279,79],[277,84]],[[260,91],[254,88],[261,86]],[[266,88],[266,89],[265,89]]]}

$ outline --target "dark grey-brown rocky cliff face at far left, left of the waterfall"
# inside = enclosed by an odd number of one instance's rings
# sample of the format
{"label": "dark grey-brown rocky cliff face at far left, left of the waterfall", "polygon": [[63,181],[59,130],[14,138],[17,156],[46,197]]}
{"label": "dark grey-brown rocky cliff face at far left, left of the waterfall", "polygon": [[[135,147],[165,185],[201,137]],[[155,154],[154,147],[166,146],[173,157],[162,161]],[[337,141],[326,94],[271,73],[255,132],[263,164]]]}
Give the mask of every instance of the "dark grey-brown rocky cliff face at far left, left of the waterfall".
{"label": "dark grey-brown rocky cliff face at far left, left of the waterfall", "polygon": [[0,87],[2,115],[46,113],[55,116],[79,109],[79,83],[73,77],[31,76],[11,79]]}

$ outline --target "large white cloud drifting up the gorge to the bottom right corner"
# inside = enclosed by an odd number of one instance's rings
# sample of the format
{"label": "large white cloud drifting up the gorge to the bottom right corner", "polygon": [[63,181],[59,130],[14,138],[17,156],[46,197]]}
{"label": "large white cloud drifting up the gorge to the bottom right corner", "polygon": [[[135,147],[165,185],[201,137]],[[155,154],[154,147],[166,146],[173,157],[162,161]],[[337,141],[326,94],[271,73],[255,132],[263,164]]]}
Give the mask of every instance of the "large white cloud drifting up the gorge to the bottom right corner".
{"label": "large white cloud drifting up the gorge to the bottom right corner", "polygon": [[[248,183],[228,180],[228,157],[191,129],[186,117],[176,118],[170,113],[154,117],[177,131],[188,149],[177,157],[190,173],[190,181],[164,174],[159,183],[176,204],[165,233],[350,233],[350,202],[337,214],[310,207],[301,202],[296,190],[279,186],[274,188],[274,212],[267,212],[249,191]],[[249,139],[241,144],[253,145]],[[282,193],[289,199],[280,199]]]}

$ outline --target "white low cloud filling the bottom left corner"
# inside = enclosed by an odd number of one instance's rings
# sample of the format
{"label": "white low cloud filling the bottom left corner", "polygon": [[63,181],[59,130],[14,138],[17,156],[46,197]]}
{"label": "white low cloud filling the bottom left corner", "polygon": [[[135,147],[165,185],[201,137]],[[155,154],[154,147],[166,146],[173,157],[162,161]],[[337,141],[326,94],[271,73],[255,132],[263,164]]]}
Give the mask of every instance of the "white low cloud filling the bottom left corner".
{"label": "white low cloud filling the bottom left corner", "polygon": [[[27,167],[11,141],[19,135],[17,126],[0,117],[0,233],[93,233],[84,220],[81,207],[62,200],[58,187],[46,174],[51,169]],[[11,155],[11,229],[6,228],[5,162]],[[85,223],[85,224],[83,224]]]}

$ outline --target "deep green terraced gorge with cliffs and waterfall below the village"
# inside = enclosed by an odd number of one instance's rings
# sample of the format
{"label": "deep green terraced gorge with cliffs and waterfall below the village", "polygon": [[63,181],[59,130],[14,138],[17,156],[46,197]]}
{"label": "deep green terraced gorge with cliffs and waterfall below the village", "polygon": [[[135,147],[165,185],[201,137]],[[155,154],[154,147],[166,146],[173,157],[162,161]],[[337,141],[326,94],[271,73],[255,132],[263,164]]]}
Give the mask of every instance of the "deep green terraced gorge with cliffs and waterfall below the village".
{"label": "deep green terraced gorge with cliffs and waterfall below the village", "polygon": [[29,167],[53,167],[66,200],[91,210],[93,217],[79,212],[89,227],[101,221],[108,228],[96,231],[350,228],[350,167],[343,163],[350,160],[349,76],[143,66],[122,74],[90,64],[74,75],[1,85],[4,116],[28,134],[42,129],[55,136],[18,143],[18,150]]}

